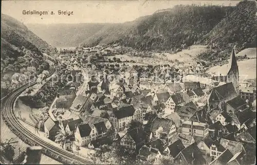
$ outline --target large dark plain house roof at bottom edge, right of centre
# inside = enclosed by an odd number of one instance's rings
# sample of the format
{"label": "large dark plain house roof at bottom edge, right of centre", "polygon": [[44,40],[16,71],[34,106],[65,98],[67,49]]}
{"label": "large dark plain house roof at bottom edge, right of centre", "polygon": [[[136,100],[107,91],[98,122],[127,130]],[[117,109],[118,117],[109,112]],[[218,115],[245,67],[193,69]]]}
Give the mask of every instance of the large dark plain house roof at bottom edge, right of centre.
{"label": "large dark plain house roof at bottom edge, right of centre", "polygon": [[175,164],[206,164],[206,159],[201,154],[196,143],[188,146],[178,153],[174,158]]}

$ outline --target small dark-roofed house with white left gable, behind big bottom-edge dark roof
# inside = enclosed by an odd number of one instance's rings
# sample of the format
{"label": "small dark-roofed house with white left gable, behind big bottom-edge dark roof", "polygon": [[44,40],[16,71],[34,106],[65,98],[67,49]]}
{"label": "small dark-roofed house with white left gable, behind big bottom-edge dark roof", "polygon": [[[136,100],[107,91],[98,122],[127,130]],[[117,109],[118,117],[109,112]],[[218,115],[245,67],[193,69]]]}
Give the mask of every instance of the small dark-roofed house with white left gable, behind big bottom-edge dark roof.
{"label": "small dark-roofed house with white left gable, behind big bottom-edge dark roof", "polygon": [[169,146],[167,146],[164,150],[164,153],[168,156],[175,158],[183,149],[185,149],[185,146],[183,145],[181,139],[178,139],[175,142],[172,142]]}

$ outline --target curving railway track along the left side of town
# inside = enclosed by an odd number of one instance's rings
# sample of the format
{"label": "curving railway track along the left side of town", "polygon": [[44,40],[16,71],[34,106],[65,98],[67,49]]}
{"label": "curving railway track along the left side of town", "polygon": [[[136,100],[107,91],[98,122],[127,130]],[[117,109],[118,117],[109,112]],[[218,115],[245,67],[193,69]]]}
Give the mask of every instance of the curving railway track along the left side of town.
{"label": "curving railway track along the left side of town", "polygon": [[[54,68],[50,68],[50,76],[54,73]],[[64,160],[68,160],[71,164],[93,164],[90,160],[86,160],[81,158],[73,153],[70,153],[64,149],[60,149],[58,147],[52,146],[50,143],[42,140],[40,137],[34,135],[30,131],[26,129],[20,123],[20,121],[16,118],[13,107],[15,99],[24,91],[26,88],[35,85],[36,83],[32,83],[30,85],[24,85],[15,89],[12,93],[10,93],[4,100],[3,100],[3,109],[2,114],[5,118],[6,122],[9,126],[14,130],[14,132],[19,133],[24,139],[27,139],[31,143],[34,143],[38,146],[41,146],[45,152],[53,153],[54,155],[58,155],[58,157],[63,158]],[[56,157],[54,159],[57,159]]]}

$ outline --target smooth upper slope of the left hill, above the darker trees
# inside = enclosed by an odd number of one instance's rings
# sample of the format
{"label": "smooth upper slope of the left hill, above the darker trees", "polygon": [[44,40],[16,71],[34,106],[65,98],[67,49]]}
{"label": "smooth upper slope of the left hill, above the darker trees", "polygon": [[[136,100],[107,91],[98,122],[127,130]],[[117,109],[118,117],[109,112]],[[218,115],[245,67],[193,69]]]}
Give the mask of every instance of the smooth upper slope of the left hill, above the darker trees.
{"label": "smooth upper slope of the left hill, above the darker trees", "polygon": [[[51,54],[54,47],[47,44],[43,39],[36,36],[25,25],[9,15],[1,14],[1,37],[17,47],[29,46],[31,51],[36,53]],[[19,36],[19,37],[18,37]],[[30,43],[30,44],[29,44]]]}

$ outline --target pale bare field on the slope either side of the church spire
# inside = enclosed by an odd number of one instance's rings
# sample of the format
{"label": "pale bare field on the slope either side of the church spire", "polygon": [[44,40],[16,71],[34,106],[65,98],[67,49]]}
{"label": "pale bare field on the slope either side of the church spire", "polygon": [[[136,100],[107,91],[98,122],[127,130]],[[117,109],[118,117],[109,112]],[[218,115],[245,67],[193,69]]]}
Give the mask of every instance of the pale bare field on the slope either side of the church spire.
{"label": "pale bare field on the slope either side of the church spire", "polygon": [[[255,79],[256,78],[256,59],[247,59],[242,61],[237,61],[238,70],[239,70],[239,80],[244,81],[246,79]],[[207,73],[218,72],[226,70],[227,64],[223,66],[215,66],[210,68]]]}

